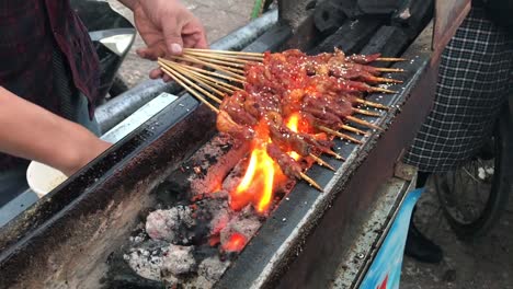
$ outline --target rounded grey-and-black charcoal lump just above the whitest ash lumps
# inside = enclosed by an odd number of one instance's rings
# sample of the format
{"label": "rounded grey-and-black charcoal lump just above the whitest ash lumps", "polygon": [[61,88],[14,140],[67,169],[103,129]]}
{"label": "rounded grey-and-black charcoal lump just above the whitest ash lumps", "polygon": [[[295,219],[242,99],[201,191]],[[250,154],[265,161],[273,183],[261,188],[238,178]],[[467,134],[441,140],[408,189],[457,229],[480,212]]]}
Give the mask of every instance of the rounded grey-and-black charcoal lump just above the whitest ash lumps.
{"label": "rounded grey-and-black charcoal lump just above the whitest ash lumps", "polygon": [[169,210],[152,211],[146,219],[146,232],[153,240],[187,244],[191,239],[187,232],[192,232],[190,229],[195,224],[192,209],[176,206]]}

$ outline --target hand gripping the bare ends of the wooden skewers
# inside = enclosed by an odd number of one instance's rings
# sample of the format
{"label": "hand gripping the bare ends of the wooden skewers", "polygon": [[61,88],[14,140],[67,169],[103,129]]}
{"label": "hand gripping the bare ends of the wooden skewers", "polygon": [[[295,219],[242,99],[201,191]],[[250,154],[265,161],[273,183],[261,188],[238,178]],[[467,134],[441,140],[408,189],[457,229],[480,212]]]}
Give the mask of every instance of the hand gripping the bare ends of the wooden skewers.
{"label": "hand gripping the bare ends of the wooden skewers", "polygon": [[[133,5],[134,19],[147,48],[137,50],[146,59],[181,55],[183,47],[207,48],[205,30],[200,22],[178,0],[144,0]],[[150,78],[169,77],[160,69],[150,72]]]}

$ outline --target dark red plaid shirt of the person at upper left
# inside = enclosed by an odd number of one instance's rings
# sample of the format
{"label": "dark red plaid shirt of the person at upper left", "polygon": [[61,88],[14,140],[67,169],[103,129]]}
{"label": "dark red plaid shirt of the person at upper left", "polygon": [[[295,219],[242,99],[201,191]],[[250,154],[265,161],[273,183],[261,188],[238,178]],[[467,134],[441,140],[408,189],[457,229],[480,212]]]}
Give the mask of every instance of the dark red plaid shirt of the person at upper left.
{"label": "dark red plaid shirt of the person at upper left", "polygon": [[[68,0],[0,1],[0,85],[62,115],[55,93],[53,57],[59,50],[71,71],[71,86],[89,99],[89,114],[100,96],[99,60],[88,32]],[[16,166],[0,153],[0,172]]]}

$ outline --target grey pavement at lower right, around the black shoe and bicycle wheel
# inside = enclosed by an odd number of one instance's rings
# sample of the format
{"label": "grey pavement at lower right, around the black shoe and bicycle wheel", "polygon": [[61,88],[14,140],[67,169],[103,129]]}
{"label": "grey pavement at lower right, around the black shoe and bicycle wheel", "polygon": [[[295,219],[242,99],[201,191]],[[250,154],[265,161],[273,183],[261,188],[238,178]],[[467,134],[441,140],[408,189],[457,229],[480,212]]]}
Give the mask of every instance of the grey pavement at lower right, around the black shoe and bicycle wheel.
{"label": "grey pavement at lower right, around the black shoe and bicycle wheel", "polygon": [[445,252],[440,265],[406,258],[401,288],[513,288],[513,199],[500,222],[485,238],[459,241],[442,216],[430,187],[419,201],[417,221]]}

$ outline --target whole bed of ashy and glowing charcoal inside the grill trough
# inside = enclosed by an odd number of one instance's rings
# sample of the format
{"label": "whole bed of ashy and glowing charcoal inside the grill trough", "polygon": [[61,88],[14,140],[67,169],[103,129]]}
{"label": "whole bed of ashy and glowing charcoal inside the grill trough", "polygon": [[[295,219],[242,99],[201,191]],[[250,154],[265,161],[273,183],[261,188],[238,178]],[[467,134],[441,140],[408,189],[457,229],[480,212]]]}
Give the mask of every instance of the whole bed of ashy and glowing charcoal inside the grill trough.
{"label": "whole bed of ashy and glowing charcoal inside the grill trough", "polygon": [[106,287],[212,288],[294,187],[276,187],[265,211],[233,201],[248,149],[218,135],[173,172],[156,189],[159,204],[109,258]]}

